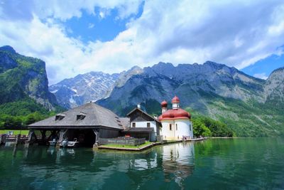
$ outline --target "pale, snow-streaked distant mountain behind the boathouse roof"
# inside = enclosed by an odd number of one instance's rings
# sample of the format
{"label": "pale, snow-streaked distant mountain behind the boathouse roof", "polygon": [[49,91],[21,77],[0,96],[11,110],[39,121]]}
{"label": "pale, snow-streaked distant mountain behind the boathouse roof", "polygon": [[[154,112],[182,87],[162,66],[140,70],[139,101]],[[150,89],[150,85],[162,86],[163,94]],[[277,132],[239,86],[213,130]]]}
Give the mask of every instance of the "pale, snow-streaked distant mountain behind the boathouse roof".
{"label": "pale, snow-streaked distant mountain behind the boathouse roof", "polygon": [[50,92],[54,93],[58,102],[65,108],[77,107],[89,101],[97,101],[109,97],[115,86],[123,86],[131,76],[141,73],[139,67],[119,74],[90,72],[77,75],[75,78],[62,80],[50,85]]}

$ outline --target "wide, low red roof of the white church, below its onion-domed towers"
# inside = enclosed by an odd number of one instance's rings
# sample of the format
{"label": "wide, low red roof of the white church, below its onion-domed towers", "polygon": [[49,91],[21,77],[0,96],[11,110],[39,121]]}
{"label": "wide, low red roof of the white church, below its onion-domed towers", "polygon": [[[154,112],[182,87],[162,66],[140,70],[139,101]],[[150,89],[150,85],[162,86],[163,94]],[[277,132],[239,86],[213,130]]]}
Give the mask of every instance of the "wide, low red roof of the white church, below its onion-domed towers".
{"label": "wide, low red roof of the white church, below its onion-domed towers", "polygon": [[191,115],[189,112],[178,108],[176,110],[168,110],[163,112],[162,115],[158,118],[161,120],[178,120],[178,119],[190,119]]}

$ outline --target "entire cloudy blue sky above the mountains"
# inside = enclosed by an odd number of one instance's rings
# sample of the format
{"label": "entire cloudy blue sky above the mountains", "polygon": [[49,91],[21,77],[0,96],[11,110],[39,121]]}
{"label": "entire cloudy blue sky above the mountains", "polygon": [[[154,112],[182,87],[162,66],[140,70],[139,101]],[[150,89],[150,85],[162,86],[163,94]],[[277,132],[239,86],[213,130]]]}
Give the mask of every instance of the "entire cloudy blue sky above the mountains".
{"label": "entire cloudy blue sky above the mountains", "polygon": [[44,60],[50,84],[160,61],[267,78],[284,66],[284,1],[0,0],[4,45]]}

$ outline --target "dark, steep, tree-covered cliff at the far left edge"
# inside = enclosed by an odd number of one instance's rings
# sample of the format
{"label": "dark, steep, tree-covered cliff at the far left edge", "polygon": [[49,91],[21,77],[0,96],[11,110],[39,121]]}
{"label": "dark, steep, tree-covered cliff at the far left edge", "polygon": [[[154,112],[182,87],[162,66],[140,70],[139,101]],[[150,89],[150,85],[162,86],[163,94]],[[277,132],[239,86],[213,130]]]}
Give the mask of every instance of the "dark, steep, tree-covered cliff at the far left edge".
{"label": "dark, steep, tree-covered cliff at the far left edge", "polygon": [[21,56],[11,46],[0,48],[0,104],[32,98],[48,110],[57,105],[48,90],[43,60]]}

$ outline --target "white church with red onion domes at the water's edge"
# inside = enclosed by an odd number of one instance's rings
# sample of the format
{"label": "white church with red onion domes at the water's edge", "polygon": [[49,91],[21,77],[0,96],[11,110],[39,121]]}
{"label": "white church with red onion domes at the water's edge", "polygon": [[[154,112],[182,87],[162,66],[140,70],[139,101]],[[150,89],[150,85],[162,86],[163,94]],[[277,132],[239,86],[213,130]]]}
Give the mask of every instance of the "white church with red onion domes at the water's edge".
{"label": "white church with red onion domes at the water's edge", "polygon": [[180,108],[180,99],[175,96],[172,100],[173,109],[168,110],[168,103],[161,102],[162,115],[158,118],[162,123],[160,135],[163,139],[189,139],[193,138],[190,113]]}

